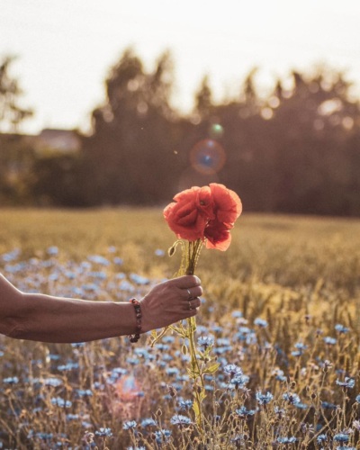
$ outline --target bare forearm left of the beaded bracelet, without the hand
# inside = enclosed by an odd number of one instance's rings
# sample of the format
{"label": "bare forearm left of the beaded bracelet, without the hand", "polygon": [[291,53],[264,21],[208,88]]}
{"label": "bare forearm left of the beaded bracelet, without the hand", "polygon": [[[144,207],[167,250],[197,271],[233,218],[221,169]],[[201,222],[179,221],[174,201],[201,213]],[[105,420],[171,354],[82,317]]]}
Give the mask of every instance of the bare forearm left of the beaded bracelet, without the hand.
{"label": "bare forearm left of the beaded bracelet, without the hand", "polygon": [[42,342],[85,342],[135,330],[130,303],[90,302],[23,293],[8,336]]}

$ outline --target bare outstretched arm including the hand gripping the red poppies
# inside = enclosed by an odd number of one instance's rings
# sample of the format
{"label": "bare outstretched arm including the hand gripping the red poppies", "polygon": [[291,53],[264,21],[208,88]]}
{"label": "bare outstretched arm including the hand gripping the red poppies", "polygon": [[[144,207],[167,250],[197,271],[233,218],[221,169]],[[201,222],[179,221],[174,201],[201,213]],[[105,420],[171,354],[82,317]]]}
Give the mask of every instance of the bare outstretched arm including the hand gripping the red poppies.
{"label": "bare outstretched arm including the hand gripping the red poppies", "polygon": [[[194,298],[189,310],[189,290]],[[157,284],[140,300],[142,329],[159,329],[192,317],[200,306],[200,280],[186,275]],[[41,342],[85,342],[136,330],[130,302],[95,302],[22,293],[0,274],[0,333]]]}

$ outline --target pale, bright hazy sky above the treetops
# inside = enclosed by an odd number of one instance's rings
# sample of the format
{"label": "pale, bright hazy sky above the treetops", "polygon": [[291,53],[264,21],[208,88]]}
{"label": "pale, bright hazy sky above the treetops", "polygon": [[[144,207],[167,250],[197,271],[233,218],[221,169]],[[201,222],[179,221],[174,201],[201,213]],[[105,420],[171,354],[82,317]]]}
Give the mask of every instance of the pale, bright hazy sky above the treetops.
{"label": "pale, bright hazy sky above the treetops", "polygon": [[147,70],[171,50],[183,112],[203,76],[221,101],[252,67],[266,92],[293,68],[325,64],[344,70],[360,98],[359,23],[359,0],[0,0],[0,58],[17,57],[12,75],[35,111],[23,132],[88,130],[129,47]]}

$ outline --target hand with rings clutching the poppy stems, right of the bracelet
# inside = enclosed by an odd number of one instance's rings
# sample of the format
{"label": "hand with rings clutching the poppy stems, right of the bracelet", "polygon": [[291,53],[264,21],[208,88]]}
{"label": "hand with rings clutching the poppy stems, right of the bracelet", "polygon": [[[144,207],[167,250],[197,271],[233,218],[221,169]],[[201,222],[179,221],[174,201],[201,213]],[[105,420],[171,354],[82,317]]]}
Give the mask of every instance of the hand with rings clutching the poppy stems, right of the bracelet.
{"label": "hand with rings clutching the poppy stems, right of the bracelet", "polygon": [[142,332],[162,329],[197,313],[202,295],[201,281],[195,275],[184,275],[157,284],[140,301]]}

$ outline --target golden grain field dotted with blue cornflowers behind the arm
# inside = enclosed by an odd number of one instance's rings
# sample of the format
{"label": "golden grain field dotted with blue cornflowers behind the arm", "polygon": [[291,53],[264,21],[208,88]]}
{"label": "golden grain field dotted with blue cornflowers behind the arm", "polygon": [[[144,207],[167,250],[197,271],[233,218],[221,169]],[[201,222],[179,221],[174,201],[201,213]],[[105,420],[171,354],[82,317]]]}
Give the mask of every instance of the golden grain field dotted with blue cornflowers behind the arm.
{"label": "golden grain field dotted with blue cornflowers behind the arm", "polygon": [[[27,292],[125,302],[179,266],[161,209],[3,209],[0,230],[0,272]],[[200,424],[171,331],[153,347],[0,337],[0,447],[360,448],[360,220],[244,212],[196,274],[199,357],[219,364]]]}

